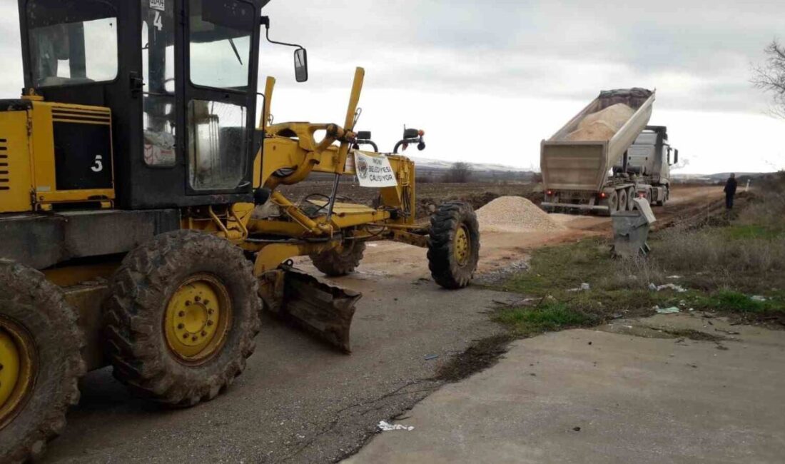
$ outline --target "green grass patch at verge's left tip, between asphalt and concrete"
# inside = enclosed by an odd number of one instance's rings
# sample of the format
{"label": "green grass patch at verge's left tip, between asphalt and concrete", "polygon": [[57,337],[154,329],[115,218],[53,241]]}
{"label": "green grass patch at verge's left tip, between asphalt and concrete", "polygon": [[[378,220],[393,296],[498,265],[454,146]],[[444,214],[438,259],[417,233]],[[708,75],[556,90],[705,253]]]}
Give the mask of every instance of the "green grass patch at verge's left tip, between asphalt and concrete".
{"label": "green grass patch at verge's left tip, between asphalt and concrete", "polygon": [[509,308],[498,311],[494,320],[518,336],[530,337],[543,332],[586,327],[597,323],[597,316],[572,309],[566,303],[546,302],[536,308]]}

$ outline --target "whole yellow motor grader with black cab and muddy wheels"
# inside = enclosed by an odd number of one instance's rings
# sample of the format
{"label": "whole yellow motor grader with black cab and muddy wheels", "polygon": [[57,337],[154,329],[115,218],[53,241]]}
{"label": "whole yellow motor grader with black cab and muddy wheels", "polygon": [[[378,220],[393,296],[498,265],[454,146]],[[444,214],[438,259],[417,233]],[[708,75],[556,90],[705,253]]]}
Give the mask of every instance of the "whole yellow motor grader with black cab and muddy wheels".
{"label": "whole yellow motor grader with black cab and muddy wheels", "polygon": [[[254,125],[267,3],[19,0],[25,89],[0,100],[0,462],[42,453],[86,370],[111,364],[162,404],[210,400],[254,352],[262,308],[349,351],[360,294],[290,258],[341,276],[392,239],[427,247],[442,287],[472,279],[471,207],[421,224],[414,163],[352,149],[362,69],[344,126],[268,126],[274,79]],[[279,189],[317,172],[330,195]],[[344,175],[381,179],[377,206],[339,202]]]}

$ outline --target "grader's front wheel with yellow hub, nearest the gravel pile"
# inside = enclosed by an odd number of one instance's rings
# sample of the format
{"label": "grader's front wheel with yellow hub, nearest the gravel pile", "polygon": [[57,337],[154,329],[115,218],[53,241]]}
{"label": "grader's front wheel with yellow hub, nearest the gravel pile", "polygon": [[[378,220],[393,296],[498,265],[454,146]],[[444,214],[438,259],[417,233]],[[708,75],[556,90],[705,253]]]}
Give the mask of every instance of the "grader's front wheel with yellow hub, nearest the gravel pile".
{"label": "grader's front wheel with yellow hub, nearest the gravel pile", "polygon": [[472,206],[451,202],[431,217],[428,262],[431,276],[448,290],[471,283],[480,261],[480,225]]}

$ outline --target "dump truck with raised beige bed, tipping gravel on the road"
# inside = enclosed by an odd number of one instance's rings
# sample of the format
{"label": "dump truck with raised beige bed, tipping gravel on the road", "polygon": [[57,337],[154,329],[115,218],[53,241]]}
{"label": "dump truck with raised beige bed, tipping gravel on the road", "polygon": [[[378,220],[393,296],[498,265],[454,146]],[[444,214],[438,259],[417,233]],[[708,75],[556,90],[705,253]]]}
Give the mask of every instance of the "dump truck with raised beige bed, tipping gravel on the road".
{"label": "dump truck with raised beige bed, tipping gravel on the road", "polygon": [[[670,147],[665,127],[648,126],[655,97],[655,91],[640,88],[603,91],[542,141],[543,208],[610,215],[632,210],[636,198],[665,204],[670,166],[678,153]],[[626,104],[633,113],[609,140],[570,140],[584,119],[616,104]]]}

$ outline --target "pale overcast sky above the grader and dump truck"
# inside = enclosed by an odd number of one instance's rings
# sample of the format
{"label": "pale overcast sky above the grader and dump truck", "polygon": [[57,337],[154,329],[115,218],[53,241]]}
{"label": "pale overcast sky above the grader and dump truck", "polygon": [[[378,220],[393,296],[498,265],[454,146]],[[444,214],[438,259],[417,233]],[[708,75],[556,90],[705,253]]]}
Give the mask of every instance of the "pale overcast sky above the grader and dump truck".
{"label": "pale overcast sky above the grader and dump truck", "polygon": [[[16,2],[2,0],[0,93],[22,86]],[[428,158],[539,168],[539,143],[600,90],[657,89],[684,173],[785,168],[785,122],[750,85],[750,66],[785,39],[785,2],[661,0],[272,0],[262,47],[277,122],[343,122],[355,66],[367,70],[358,129],[390,149],[403,125],[427,132]],[[412,153],[410,153],[412,154]]]}

